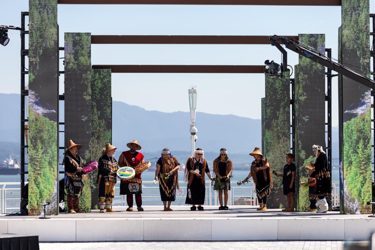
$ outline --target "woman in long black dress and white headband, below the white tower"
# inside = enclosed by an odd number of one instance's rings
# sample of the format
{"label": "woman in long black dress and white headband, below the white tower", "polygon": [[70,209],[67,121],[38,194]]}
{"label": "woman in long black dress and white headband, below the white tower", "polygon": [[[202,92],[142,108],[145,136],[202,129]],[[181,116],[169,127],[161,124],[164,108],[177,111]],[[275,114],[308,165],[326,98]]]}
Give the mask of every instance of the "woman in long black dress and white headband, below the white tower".
{"label": "woman in long black dress and white headband, below the white tower", "polygon": [[195,157],[189,157],[186,161],[185,166],[185,181],[187,181],[187,194],[185,204],[193,205],[190,210],[195,211],[198,205],[198,210],[203,211],[205,198],[205,178],[204,173],[207,174],[208,178],[212,181],[213,178],[210,175],[210,170],[207,166],[207,161],[204,158],[204,152],[202,149],[197,148],[195,150]]}

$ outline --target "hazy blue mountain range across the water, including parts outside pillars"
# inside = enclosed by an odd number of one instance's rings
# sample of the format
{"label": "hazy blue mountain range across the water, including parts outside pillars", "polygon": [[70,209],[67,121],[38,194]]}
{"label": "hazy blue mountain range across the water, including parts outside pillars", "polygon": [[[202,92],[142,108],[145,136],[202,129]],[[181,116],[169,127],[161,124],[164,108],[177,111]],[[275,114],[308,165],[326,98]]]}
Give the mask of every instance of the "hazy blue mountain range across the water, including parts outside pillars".
{"label": "hazy blue mountain range across the water, including parts outside pillars", "polygon": [[[0,141],[5,144],[20,143],[20,95],[0,93],[0,107]],[[63,117],[63,107],[60,107],[60,122]],[[177,151],[189,155],[189,112],[148,111],[114,101],[112,117],[112,144],[118,151],[127,150],[126,144],[136,139],[145,155],[159,155],[157,152],[163,148],[169,148],[172,153]],[[249,152],[255,147],[261,147],[260,119],[197,112],[196,124],[198,140],[195,147],[202,148],[207,156],[214,157],[220,148],[226,148],[231,158],[237,159],[235,161],[249,162]],[[338,158],[337,127],[332,128],[332,134],[332,158]],[[60,141],[63,141],[63,136]],[[10,148],[14,148],[14,145]],[[9,153],[19,155],[19,151]]]}

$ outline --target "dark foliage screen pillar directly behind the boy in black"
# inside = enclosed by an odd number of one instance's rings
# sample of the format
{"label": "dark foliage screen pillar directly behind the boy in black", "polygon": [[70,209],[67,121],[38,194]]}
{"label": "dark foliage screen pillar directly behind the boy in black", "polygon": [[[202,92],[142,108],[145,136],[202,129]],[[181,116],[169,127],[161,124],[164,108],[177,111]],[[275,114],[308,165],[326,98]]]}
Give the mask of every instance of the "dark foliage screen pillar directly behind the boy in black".
{"label": "dark foliage screen pillar directly behind the boy in black", "polygon": [[[300,45],[304,44],[325,53],[324,34],[299,34]],[[299,183],[307,181],[309,172],[305,167],[314,162],[312,145],[326,145],[325,140],[325,68],[304,56],[294,67],[294,96],[296,116],[296,205],[298,211],[310,208],[309,193]]]}

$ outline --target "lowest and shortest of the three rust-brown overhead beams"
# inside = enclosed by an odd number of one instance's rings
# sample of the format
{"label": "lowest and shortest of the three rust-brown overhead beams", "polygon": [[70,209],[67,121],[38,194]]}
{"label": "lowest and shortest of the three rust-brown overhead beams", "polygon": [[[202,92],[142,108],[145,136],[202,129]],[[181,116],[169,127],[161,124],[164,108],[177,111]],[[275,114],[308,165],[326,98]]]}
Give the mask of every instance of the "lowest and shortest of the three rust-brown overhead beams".
{"label": "lowest and shortest of the three rust-brown overhead beams", "polygon": [[263,65],[92,65],[112,73],[263,73]]}

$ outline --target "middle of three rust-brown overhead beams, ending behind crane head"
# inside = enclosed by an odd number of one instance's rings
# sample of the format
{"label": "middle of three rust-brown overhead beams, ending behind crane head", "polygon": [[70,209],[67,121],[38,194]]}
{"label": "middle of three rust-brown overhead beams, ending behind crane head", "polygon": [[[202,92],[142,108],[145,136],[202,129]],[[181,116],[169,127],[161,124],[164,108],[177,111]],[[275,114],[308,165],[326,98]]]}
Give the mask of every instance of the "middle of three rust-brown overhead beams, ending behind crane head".
{"label": "middle of three rust-brown overhead beams, ending behind crane head", "polygon": [[[270,36],[92,35],[92,44],[270,44]],[[298,36],[283,36],[298,41]]]}

